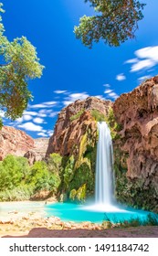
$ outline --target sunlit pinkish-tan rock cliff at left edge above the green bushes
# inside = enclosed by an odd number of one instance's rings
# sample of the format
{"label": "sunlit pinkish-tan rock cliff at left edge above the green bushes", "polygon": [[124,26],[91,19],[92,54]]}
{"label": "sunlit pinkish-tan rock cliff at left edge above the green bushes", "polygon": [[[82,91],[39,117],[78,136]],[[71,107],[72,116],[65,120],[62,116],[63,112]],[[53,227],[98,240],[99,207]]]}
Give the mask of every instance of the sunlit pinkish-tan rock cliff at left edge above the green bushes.
{"label": "sunlit pinkish-tan rock cliff at left edge above the green bushes", "polygon": [[33,148],[34,140],[25,132],[9,126],[4,126],[0,131],[0,160],[8,154],[23,156]]}

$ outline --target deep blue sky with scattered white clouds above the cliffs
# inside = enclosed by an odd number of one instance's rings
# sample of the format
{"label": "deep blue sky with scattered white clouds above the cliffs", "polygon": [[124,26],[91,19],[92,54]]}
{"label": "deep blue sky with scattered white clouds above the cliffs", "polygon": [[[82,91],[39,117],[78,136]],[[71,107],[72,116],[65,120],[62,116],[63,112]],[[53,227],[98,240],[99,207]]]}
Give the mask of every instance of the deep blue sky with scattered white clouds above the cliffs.
{"label": "deep blue sky with scattered white clouds above the cliffs", "polygon": [[21,129],[34,138],[53,133],[58,112],[72,101],[88,96],[114,101],[132,91],[158,69],[158,1],[144,0],[144,18],[136,39],[119,48],[100,42],[92,49],[76,39],[73,29],[79,17],[93,9],[84,0],[2,0],[5,35],[12,40],[25,36],[37,48],[46,67],[40,80],[29,82],[34,101],[22,118],[5,125]]}

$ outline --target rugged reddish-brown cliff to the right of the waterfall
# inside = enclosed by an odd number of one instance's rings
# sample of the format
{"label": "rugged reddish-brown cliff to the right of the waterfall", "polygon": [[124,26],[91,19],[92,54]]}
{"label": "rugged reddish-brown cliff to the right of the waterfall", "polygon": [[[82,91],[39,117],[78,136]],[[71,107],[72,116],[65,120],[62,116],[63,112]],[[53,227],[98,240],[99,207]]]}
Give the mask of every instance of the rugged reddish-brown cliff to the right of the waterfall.
{"label": "rugged reddish-brown cliff to the right of the waterfall", "polygon": [[121,127],[114,146],[116,168],[127,177],[124,191],[118,181],[118,197],[128,200],[131,194],[132,204],[135,197],[138,207],[158,211],[158,77],[122,94],[113,111]]}

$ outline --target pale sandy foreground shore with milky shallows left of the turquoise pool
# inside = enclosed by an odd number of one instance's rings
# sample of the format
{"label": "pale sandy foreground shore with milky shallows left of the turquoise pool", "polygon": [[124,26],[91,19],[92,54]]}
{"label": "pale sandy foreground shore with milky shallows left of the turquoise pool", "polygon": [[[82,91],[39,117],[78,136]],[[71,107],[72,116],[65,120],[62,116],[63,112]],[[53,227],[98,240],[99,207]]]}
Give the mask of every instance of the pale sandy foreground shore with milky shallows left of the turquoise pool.
{"label": "pale sandy foreground shore with milky shallows left of the turquoise pool", "polygon": [[[52,203],[52,202],[51,202]],[[101,224],[85,221],[64,222],[52,216],[46,217],[45,202],[0,203],[0,237],[73,238],[73,237],[156,237],[158,227],[105,229]]]}

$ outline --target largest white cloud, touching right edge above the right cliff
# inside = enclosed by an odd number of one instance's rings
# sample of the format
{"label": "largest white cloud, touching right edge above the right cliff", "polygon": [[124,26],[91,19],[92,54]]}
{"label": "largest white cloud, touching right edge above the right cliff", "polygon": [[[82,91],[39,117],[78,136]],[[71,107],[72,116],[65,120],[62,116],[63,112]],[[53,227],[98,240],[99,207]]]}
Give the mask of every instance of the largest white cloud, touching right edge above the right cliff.
{"label": "largest white cloud, touching right edge above the right cliff", "polygon": [[132,64],[131,72],[151,69],[158,64],[158,46],[140,48],[134,54],[135,59],[128,59],[125,62]]}

